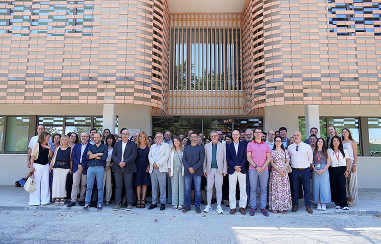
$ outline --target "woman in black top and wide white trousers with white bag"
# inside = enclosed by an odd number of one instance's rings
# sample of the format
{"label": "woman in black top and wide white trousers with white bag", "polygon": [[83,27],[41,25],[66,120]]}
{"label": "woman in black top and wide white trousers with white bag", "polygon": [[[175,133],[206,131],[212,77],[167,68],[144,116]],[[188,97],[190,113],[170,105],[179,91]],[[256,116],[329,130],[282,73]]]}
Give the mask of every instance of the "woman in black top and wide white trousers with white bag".
{"label": "woman in black top and wide white trousers with white bag", "polygon": [[49,144],[50,134],[42,132],[32,148],[30,157],[30,171],[34,172],[37,189],[29,193],[29,205],[38,206],[50,203],[49,194],[49,157],[52,157],[52,148]]}

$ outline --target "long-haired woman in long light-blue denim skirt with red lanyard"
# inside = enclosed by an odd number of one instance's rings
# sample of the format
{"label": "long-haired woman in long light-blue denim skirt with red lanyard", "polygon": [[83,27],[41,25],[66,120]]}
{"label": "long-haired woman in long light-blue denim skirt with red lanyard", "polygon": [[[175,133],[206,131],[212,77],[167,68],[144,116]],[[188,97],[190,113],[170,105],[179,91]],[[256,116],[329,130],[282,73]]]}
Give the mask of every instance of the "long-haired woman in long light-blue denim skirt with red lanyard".
{"label": "long-haired woman in long light-blue denim skirt with red lanyard", "polygon": [[[311,137],[310,137],[311,141]],[[318,210],[326,210],[325,203],[331,200],[331,189],[329,184],[329,173],[327,171],[331,164],[331,157],[327,152],[327,145],[323,138],[319,138],[313,153],[314,159],[311,164],[313,170],[313,201],[318,203]]]}

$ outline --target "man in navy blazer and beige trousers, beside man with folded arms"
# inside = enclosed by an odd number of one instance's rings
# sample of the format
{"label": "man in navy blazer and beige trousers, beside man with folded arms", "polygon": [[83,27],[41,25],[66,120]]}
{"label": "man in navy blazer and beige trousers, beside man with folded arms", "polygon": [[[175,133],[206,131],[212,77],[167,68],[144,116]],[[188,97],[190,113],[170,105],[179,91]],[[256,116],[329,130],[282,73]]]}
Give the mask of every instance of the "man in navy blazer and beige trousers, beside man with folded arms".
{"label": "man in navy blazer and beige trousers, beside man with folded arms", "polygon": [[78,194],[78,185],[81,183],[79,206],[85,205],[86,180],[87,180],[87,163],[89,160],[86,157],[89,149],[89,134],[81,133],[81,143],[75,144],[71,152],[71,160],[73,161],[73,186],[71,188],[71,201],[66,207],[75,206]]}

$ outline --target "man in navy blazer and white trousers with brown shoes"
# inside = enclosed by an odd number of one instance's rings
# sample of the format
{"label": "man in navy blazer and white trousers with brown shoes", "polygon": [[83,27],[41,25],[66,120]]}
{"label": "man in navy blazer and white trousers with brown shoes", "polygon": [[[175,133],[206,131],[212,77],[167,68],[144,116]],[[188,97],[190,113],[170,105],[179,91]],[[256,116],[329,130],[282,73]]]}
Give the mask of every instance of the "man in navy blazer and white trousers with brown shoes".
{"label": "man in navy blazer and white trousers with brown shoes", "polygon": [[240,132],[234,130],[232,133],[233,142],[226,145],[226,160],[228,161],[229,169],[229,204],[230,213],[236,212],[236,186],[237,180],[240,183],[240,213],[246,214],[246,201],[248,194],[246,192],[246,177],[247,177],[247,143],[240,141]]}

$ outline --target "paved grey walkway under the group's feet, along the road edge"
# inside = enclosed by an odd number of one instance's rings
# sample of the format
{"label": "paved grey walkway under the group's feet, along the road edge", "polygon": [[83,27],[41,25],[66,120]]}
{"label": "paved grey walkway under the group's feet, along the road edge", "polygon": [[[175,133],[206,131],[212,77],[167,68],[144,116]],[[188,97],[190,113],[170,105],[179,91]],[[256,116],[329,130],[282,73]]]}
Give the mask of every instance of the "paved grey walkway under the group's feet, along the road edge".
{"label": "paved grey walkway under the group's feet, along the road edge", "polygon": [[[53,203],[51,203],[48,206],[28,206],[29,202],[29,193],[24,190],[22,187],[14,187],[11,185],[0,185],[0,210],[1,211],[60,211],[60,212],[73,212],[73,211],[84,211],[82,207],[78,205],[78,202],[75,206],[68,208],[66,207],[67,203],[64,204],[64,206],[54,206]],[[355,214],[355,215],[376,215],[381,214],[381,189],[359,189],[359,198],[358,200],[355,200],[355,206],[350,207],[349,211],[345,210],[337,210],[335,209],[334,203],[328,203],[327,204],[327,210],[326,211],[318,211],[316,209],[316,204],[312,204],[312,209],[314,210],[315,215],[319,214]],[[145,205],[144,209],[138,209],[136,207],[132,207],[131,213],[180,213],[181,210],[174,210],[172,209],[172,205],[169,203],[166,204],[166,210],[160,211],[159,207],[148,210],[148,206],[150,205],[150,199],[148,198],[148,203]],[[259,198],[257,200],[257,203],[259,203]],[[106,207],[103,206],[102,211],[107,212],[114,212],[112,210],[112,207],[114,204],[111,204],[110,206]],[[160,206],[160,205],[159,205]],[[239,206],[237,202],[237,206]],[[207,214],[212,215],[218,215],[218,213],[215,211],[217,205],[212,204],[213,210]],[[257,207],[259,209],[259,205]],[[122,210],[123,209],[123,210]],[[204,205],[201,204],[201,211],[203,211]],[[224,210],[224,214],[229,214],[230,208],[226,207],[225,205],[222,206],[222,209]],[[122,207],[119,211],[124,211],[125,209]],[[249,210],[247,210],[247,215],[249,215]],[[90,208],[89,211],[97,211],[95,208]],[[269,211],[270,212],[270,211]],[[289,214],[291,214],[291,211],[288,211]],[[196,214],[194,211],[194,206],[191,206],[191,211],[187,214]],[[202,214],[204,214],[202,212]],[[240,214],[240,213],[236,213]],[[260,214],[260,212],[257,210],[256,214]],[[303,214],[303,215],[309,215],[306,211],[306,208],[304,207],[304,199],[299,200],[299,210],[296,213],[292,214]],[[270,216],[274,215],[270,213]]]}

